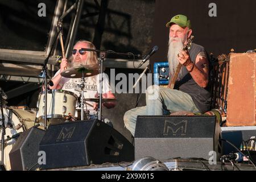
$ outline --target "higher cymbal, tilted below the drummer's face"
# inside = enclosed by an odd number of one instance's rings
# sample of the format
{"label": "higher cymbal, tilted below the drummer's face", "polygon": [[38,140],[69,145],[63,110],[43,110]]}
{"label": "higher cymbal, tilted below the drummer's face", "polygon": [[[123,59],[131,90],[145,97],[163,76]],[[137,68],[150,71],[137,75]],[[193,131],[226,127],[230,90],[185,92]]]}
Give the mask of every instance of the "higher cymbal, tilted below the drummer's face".
{"label": "higher cymbal, tilted below the drummer's face", "polygon": [[84,77],[90,77],[94,75],[98,75],[98,65],[90,64],[90,65],[81,65],[79,67],[68,68],[62,73],[61,76],[66,78],[81,78],[82,73],[84,73]]}

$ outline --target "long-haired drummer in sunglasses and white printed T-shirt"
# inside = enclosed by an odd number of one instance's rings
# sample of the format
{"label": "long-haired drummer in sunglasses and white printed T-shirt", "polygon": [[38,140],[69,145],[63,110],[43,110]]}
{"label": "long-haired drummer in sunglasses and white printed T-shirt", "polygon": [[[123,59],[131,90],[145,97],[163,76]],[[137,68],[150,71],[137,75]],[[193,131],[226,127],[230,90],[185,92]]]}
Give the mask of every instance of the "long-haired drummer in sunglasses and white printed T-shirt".
{"label": "long-haired drummer in sunglasses and white printed T-shirt", "polygon": [[[75,93],[77,96],[81,96],[81,78],[66,78],[60,75],[67,68],[78,67],[82,65],[98,65],[97,54],[93,51],[83,51],[81,48],[96,49],[93,43],[86,40],[79,40],[76,42],[72,50],[72,56],[69,60],[61,59],[60,69],[56,72],[55,76],[52,78],[53,86],[50,89],[62,89],[69,92]],[[85,77],[85,88],[84,88],[84,98],[96,98],[100,92],[99,76],[94,75],[90,77]],[[108,78],[106,73],[102,75],[102,98],[115,98],[114,94],[111,92]],[[103,105],[108,109],[115,106],[115,102],[104,102]],[[86,101],[84,109],[89,110],[91,115],[95,115],[98,110],[98,103]]]}

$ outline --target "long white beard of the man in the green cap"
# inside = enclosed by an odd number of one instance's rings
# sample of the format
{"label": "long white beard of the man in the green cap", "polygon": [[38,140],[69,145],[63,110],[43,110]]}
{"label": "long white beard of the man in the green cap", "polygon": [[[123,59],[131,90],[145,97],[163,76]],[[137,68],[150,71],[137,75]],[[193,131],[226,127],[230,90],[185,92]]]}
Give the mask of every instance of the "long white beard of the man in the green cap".
{"label": "long white beard of the man in the green cap", "polygon": [[[177,42],[171,42],[171,40],[177,40]],[[174,76],[177,65],[179,64],[179,60],[177,58],[177,54],[183,49],[183,40],[180,38],[170,38],[169,39],[169,47],[168,47],[168,63],[169,70],[171,76]],[[182,77],[182,68],[180,69],[179,75],[177,76],[177,80],[180,80]]]}

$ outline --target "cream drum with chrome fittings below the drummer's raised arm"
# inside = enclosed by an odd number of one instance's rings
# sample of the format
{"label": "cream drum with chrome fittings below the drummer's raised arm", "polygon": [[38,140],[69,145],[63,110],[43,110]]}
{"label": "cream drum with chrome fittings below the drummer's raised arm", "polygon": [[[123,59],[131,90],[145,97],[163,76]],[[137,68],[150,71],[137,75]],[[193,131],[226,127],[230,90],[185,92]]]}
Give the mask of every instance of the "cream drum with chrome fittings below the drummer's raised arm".
{"label": "cream drum with chrome fittings below the drummer's raised arm", "polygon": [[[38,119],[44,121],[45,92],[38,97]],[[75,115],[78,105],[75,93],[66,90],[49,90],[47,93],[47,121],[49,123],[63,123],[69,115]]]}

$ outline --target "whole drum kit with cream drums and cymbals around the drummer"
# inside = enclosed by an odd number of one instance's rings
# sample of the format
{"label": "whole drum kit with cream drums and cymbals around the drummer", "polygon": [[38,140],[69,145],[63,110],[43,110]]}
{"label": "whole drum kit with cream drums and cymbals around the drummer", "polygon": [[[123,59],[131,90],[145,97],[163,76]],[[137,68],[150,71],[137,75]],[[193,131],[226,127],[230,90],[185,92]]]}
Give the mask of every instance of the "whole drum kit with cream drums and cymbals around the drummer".
{"label": "whole drum kit with cream drums and cymbals around the drummer", "polygon": [[[3,152],[3,161],[6,170],[10,170],[9,153],[13,148],[13,144],[23,131],[39,124],[40,129],[44,129],[44,117],[47,115],[47,126],[49,124],[59,124],[64,122],[72,122],[76,120],[88,121],[89,119],[97,119],[101,113],[90,115],[89,110],[84,109],[86,102],[100,102],[100,98],[84,98],[84,82],[85,77],[90,77],[98,74],[96,65],[81,65],[81,67],[73,67],[66,69],[61,76],[68,78],[81,78],[81,100],[75,93],[68,92],[67,90],[48,90],[39,94],[37,109],[28,109],[15,106],[3,106],[3,116],[5,120],[5,147]],[[44,113],[44,104],[47,98],[47,114]],[[2,105],[6,105],[7,101],[2,100]],[[101,102],[113,102],[113,98],[101,98]],[[81,108],[79,108],[79,104]],[[81,115],[81,116],[80,116]],[[2,121],[2,113],[0,112],[0,121]],[[0,122],[2,125],[2,122]],[[1,128],[1,127],[0,127]],[[0,134],[2,135],[2,131]],[[2,150],[0,150],[2,156]],[[2,159],[0,159],[2,161]]]}

